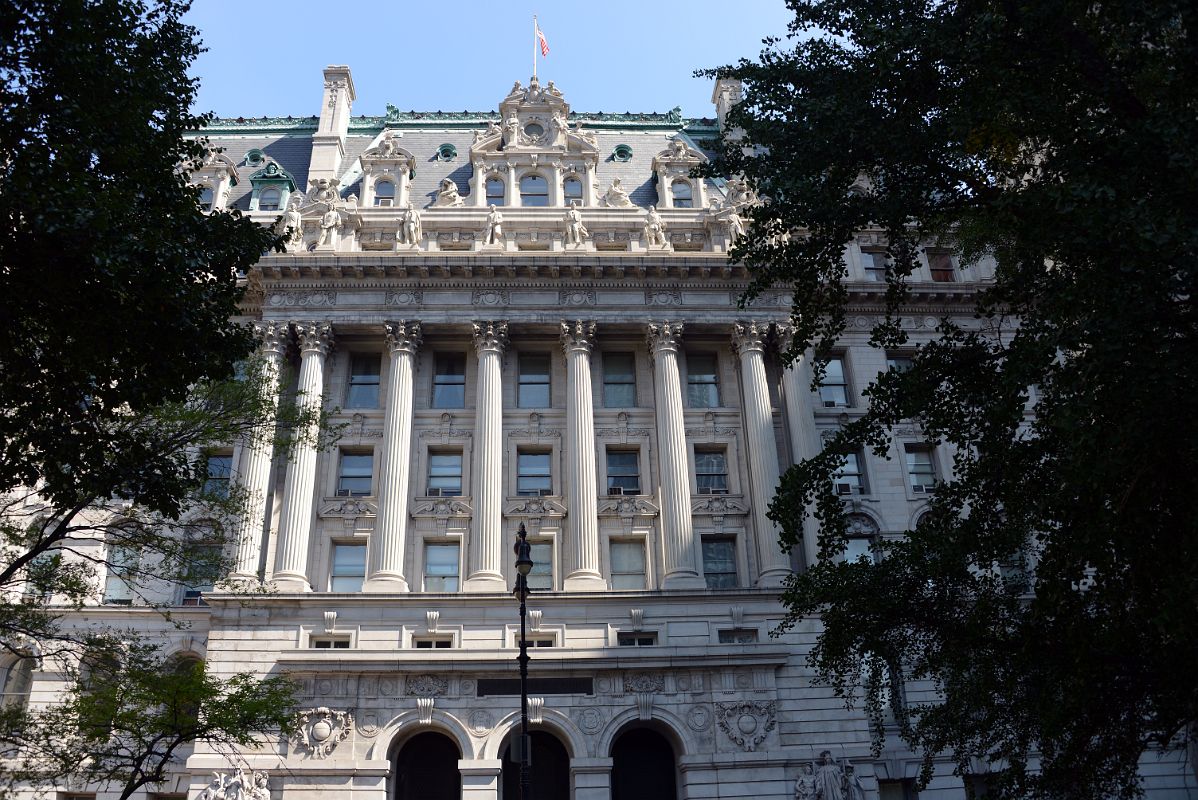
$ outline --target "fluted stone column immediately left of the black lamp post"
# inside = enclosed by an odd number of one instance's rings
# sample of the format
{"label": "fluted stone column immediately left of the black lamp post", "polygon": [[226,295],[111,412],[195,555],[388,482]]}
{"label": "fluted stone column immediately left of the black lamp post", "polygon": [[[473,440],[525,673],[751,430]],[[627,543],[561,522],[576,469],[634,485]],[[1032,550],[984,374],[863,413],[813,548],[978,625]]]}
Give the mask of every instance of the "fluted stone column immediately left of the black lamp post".
{"label": "fluted stone column immediately left of the black lamp post", "polygon": [[478,399],[474,404],[474,519],[466,592],[506,592],[503,559],[503,350],[507,322],[476,322]]}

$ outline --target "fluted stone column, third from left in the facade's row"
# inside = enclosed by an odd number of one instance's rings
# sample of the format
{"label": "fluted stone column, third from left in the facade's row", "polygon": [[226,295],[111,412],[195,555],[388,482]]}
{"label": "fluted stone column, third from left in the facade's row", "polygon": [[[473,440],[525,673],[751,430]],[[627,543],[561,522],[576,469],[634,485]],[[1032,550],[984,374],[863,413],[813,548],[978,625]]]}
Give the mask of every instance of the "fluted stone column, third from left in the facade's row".
{"label": "fluted stone column, third from left in the facade's row", "polygon": [[420,346],[419,322],[387,322],[391,370],[383,414],[382,467],[379,471],[379,517],[370,537],[364,592],[407,592],[404,540],[407,533],[407,484],[412,449],[412,374]]}

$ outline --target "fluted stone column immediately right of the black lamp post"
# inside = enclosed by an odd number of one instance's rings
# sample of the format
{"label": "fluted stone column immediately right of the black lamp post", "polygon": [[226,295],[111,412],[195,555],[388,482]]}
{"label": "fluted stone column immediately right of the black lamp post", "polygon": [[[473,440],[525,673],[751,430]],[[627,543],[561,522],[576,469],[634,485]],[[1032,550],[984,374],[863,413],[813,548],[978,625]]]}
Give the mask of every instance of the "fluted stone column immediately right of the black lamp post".
{"label": "fluted stone column immediately right of the black lamp post", "polygon": [[565,590],[607,588],[599,572],[599,497],[595,478],[595,420],[591,394],[591,347],[595,323],[562,322],[565,350],[565,533],[574,547],[574,569]]}

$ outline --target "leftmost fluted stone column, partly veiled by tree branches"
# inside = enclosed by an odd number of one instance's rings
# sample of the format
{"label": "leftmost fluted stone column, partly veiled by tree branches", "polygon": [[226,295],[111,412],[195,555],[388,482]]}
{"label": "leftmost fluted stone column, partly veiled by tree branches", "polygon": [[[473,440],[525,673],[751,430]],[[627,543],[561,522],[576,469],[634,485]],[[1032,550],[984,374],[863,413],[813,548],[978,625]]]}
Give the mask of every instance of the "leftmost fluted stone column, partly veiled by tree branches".
{"label": "leftmost fluted stone column, partly veiled by tree branches", "polygon": [[279,405],[279,362],[283,360],[288,326],[255,322],[254,337],[261,343],[259,380],[264,414],[241,459],[238,480],[246,491],[246,513],[237,521],[237,562],[230,576],[234,581],[252,583],[258,581],[266,529],[266,496],[271,491],[271,461],[274,459],[274,413]]}

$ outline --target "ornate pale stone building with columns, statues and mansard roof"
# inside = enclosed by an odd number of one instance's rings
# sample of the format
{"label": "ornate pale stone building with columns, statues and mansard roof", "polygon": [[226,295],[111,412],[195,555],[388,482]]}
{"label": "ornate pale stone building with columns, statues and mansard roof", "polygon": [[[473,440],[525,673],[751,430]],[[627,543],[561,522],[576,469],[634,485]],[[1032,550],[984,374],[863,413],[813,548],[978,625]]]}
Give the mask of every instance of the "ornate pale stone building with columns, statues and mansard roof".
{"label": "ornate pale stone building with columns, statues and mansard roof", "polygon": [[[749,275],[727,250],[755,198],[691,176],[734,84],[710,120],[575,113],[536,80],[497,114],[352,116],[347,67],[322,91],[319,116],[216,121],[222,151],[193,180],[210,207],[294,231],[247,275],[246,314],[345,432],[286,462],[213,455],[255,497],[234,577],[268,590],[184,592],[186,632],[119,582],[87,610],[219,674],[295,675],[303,726],[236,763],[196,750],[161,793],[512,800],[525,525],[538,800],[914,798],[918,758],[894,737],[871,754],[864,713],[812,680],[818,623],[770,636],[779,587],[813,557],[778,546],[779,475],[904,358],[866,344],[884,243],[846,249],[848,332],[812,392],[778,357],[791,297],[738,305]],[[914,341],[991,277],[922,259]],[[902,535],[949,469],[914,428],[889,460],[849,459],[848,556]],[[1194,788],[1178,763],[1145,775],[1154,796]],[[919,795],[958,800],[962,778],[945,764]]]}

